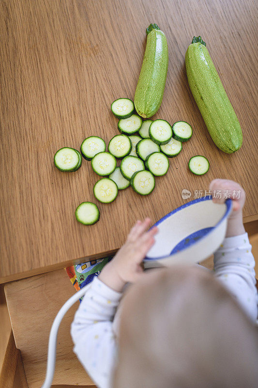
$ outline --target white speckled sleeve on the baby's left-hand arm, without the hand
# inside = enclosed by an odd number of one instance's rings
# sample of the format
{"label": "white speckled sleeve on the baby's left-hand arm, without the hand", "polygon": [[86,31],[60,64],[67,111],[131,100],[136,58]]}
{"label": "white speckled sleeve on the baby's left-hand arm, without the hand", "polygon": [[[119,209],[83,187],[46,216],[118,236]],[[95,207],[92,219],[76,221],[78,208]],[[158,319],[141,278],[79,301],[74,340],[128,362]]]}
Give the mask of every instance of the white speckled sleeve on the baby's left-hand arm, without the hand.
{"label": "white speckled sleeve on the baby's left-hand arm, without the hand", "polygon": [[121,295],[94,277],[71,326],[74,352],[101,388],[110,386],[116,348],[112,321]]}

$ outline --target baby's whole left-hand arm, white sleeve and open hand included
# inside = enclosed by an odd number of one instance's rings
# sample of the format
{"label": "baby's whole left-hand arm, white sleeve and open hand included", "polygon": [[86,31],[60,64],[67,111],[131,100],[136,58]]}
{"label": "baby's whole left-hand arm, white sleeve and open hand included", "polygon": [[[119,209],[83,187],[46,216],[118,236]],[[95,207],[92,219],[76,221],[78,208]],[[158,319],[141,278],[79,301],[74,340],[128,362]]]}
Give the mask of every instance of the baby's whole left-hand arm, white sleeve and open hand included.
{"label": "baby's whole left-hand arm, white sleeve and open hand included", "polygon": [[127,282],[143,274],[141,262],[154,243],[157,229],[146,232],[150,219],[138,221],[114,258],[95,277],[71,326],[71,335],[81,364],[100,388],[111,386],[116,361],[113,319]]}

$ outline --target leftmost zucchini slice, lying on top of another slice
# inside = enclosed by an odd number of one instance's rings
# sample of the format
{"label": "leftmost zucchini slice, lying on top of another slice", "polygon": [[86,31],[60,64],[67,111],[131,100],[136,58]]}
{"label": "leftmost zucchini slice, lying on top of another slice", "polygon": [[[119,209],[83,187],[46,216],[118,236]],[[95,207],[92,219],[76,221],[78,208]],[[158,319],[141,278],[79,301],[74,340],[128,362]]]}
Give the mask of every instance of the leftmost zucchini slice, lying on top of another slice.
{"label": "leftmost zucchini slice, lying on top of another slice", "polygon": [[60,171],[74,171],[80,162],[78,151],[74,148],[63,147],[54,156],[54,164]]}

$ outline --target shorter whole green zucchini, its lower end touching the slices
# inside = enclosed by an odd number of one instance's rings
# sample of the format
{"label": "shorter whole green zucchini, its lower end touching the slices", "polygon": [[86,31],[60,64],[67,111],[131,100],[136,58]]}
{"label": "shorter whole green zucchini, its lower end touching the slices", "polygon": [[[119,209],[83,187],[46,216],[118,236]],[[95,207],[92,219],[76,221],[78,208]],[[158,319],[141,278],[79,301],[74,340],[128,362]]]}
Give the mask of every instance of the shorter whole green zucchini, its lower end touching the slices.
{"label": "shorter whole green zucchini, its lower end touching the slices", "polygon": [[144,118],[152,117],[162,103],[168,65],[167,39],[156,24],[146,30],[147,44],[135,92],[135,109]]}

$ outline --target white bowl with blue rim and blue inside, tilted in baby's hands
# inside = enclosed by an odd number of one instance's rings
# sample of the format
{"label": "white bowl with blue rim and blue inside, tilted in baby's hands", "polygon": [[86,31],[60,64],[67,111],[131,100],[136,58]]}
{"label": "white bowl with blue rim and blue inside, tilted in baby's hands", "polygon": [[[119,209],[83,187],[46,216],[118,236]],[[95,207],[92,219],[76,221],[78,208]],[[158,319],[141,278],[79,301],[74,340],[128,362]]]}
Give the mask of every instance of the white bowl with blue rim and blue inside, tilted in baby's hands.
{"label": "white bowl with blue rim and blue inside, tilted in baby's hands", "polygon": [[159,230],[144,267],[190,264],[208,258],[225,238],[231,208],[231,199],[217,204],[206,196],[165,215],[153,225]]}

